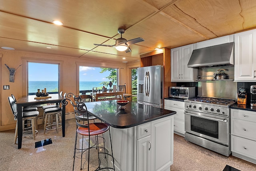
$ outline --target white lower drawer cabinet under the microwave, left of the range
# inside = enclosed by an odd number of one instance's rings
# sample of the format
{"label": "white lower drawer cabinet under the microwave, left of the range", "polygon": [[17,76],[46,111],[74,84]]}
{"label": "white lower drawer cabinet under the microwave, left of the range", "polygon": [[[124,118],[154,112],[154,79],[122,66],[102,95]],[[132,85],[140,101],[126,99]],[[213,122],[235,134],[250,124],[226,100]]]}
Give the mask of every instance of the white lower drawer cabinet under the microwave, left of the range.
{"label": "white lower drawer cabinet under the microwave, left of the range", "polygon": [[184,101],[164,99],[164,109],[176,111],[174,115],[174,133],[184,136],[185,134],[185,103]]}

